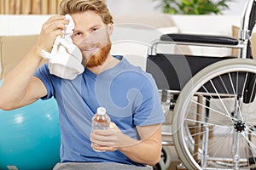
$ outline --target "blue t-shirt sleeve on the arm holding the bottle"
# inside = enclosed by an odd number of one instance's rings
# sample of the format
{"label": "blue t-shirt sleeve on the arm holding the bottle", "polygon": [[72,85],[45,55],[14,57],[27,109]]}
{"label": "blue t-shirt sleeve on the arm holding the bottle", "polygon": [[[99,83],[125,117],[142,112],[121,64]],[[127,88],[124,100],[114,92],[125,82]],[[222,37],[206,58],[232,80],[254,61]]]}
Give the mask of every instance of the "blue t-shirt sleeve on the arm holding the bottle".
{"label": "blue t-shirt sleeve on the arm holding the bottle", "polygon": [[141,89],[142,102],[134,114],[134,123],[137,126],[148,126],[165,122],[154,78],[148,75],[147,80],[143,83],[143,88]]}

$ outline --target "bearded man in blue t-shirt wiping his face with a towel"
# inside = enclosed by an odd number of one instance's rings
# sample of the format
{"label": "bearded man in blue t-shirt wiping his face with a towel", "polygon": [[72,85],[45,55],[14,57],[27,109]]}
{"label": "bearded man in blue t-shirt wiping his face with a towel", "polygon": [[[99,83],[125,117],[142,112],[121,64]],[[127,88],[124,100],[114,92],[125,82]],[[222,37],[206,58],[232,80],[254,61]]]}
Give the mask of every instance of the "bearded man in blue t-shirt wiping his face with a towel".
{"label": "bearded man in blue t-shirt wiping his face with a towel", "polygon": [[[101,0],[63,0],[60,12],[44,23],[38,42],[4,77],[0,108],[12,110],[54,97],[60,111],[61,163],[156,164],[164,116],[153,78],[109,53],[113,18]],[[65,14],[75,23],[72,39],[83,54],[85,67],[73,80],[50,74],[47,64],[38,69],[41,50],[50,52],[55,37],[63,35],[68,24]],[[106,107],[111,127],[90,132],[91,117],[99,106]]]}

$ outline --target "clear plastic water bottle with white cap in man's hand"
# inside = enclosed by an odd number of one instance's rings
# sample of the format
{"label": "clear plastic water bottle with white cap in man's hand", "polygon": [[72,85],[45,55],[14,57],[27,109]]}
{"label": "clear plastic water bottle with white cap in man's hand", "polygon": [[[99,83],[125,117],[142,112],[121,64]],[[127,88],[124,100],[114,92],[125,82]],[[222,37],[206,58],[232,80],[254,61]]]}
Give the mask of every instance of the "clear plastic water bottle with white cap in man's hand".
{"label": "clear plastic water bottle with white cap in man's hand", "polygon": [[97,112],[92,117],[91,122],[91,131],[94,131],[96,129],[108,129],[110,126],[110,117],[106,113],[106,109],[104,107],[97,108]]}

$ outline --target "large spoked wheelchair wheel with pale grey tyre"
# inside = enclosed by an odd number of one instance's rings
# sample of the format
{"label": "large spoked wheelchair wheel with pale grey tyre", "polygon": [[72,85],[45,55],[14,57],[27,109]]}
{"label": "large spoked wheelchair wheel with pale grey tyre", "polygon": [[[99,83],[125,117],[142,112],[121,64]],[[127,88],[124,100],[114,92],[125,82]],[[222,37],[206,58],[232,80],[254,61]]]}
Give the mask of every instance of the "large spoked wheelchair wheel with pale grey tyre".
{"label": "large spoked wheelchair wheel with pale grey tyre", "polygon": [[253,59],[225,59],[189,80],[177,99],[172,123],[185,167],[256,167],[255,75]]}

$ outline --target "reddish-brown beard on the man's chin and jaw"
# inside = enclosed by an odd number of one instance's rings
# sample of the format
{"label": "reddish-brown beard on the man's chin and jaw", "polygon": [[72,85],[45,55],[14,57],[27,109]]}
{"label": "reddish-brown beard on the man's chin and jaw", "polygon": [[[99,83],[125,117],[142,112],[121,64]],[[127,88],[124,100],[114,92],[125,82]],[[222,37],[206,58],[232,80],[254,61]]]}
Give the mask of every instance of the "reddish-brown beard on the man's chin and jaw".
{"label": "reddish-brown beard on the man's chin and jaw", "polygon": [[102,63],[108,58],[108,54],[111,49],[111,44],[108,44],[101,48],[96,54],[90,56],[90,59],[86,62],[85,66],[88,68],[102,65]]}

